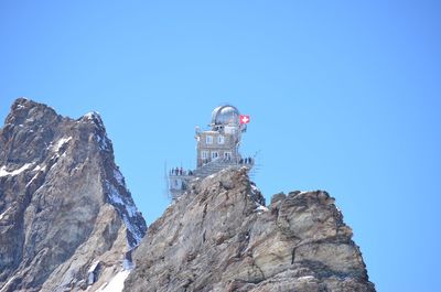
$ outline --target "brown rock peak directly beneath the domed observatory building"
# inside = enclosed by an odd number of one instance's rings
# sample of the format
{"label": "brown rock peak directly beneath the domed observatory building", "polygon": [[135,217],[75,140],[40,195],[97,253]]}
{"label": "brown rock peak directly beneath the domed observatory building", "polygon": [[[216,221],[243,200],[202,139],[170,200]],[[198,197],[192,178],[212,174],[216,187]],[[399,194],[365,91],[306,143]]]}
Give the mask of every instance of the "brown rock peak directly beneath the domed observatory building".
{"label": "brown rock peak directly beneath the domed observatory building", "polygon": [[125,291],[375,291],[327,193],[263,204],[246,170],[195,182],[149,227]]}

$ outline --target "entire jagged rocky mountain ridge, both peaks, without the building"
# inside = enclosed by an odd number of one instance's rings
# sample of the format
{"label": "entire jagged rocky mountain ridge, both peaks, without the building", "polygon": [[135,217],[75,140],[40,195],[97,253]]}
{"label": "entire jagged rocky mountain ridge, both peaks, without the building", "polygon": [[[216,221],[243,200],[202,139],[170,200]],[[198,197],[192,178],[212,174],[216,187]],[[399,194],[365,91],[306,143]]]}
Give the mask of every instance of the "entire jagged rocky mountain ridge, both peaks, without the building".
{"label": "entire jagged rocky mountain ridge, both peaks, without the building", "polygon": [[147,230],[99,113],[19,98],[0,129],[0,292],[375,291],[333,197],[266,205],[248,170],[192,180]]}

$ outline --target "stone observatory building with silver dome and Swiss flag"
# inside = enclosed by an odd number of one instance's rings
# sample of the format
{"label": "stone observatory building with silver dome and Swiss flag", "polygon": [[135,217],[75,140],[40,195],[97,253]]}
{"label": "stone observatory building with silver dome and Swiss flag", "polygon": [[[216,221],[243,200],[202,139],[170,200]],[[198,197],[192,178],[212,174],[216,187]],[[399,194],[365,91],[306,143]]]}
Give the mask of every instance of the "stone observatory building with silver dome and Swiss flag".
{"label": "stone observatory building with silver dome and Swiss flag", "polygon": [[228,167],[252,169],[255,159],[243,158],[239,152],[241,134],[246,132],[249,117],[240,115],[234,106],[216,107],[209,129],[202,131],[196,127],[196,169],[186,171],[175,167],[170,171],[168,183],[171,197],[181,196],[196,177],[203,179]]}

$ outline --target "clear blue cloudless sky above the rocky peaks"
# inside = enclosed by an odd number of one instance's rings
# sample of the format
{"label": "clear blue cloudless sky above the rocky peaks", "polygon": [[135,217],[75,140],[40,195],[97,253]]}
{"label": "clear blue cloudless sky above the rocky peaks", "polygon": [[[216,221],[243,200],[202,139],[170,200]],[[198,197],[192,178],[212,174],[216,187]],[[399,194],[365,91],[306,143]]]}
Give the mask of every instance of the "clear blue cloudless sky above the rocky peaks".
{"label": "clear blue cloudless sky above the rocky peaks", "polygon": [[25,96],[97,110],[150,224],[164,163],[230,102],[255,181],[336,198],[378,291],[437,291],[440,1],[0,2],[0,119]]}

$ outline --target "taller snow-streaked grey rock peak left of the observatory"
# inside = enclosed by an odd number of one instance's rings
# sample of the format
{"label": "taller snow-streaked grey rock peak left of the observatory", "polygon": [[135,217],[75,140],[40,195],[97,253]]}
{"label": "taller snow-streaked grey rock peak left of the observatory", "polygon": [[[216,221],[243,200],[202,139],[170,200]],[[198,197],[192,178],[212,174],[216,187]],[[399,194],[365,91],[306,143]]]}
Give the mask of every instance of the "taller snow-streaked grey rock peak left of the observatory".
{"label": "taller snow-streaked grey rock peak left of the observatory", "polygon": [[97,290],[146,223],[99,115],[20,98],[0,130],[0,291]]}

